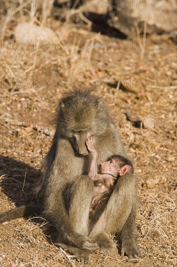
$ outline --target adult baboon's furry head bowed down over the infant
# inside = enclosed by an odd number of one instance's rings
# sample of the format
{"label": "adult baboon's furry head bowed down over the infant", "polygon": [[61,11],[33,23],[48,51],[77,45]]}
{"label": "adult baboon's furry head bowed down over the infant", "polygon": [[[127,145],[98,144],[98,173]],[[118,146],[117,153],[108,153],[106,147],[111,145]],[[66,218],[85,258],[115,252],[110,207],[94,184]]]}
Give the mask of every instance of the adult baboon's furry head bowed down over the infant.
{"label": "adult baboon's furry head bowed down over the infant", "polygon": [[70,140],[78,154],[87,155],[87,138],[105,132],[106,117],[102,100],[89,93],[63,98],[59,103],[59,133]]}

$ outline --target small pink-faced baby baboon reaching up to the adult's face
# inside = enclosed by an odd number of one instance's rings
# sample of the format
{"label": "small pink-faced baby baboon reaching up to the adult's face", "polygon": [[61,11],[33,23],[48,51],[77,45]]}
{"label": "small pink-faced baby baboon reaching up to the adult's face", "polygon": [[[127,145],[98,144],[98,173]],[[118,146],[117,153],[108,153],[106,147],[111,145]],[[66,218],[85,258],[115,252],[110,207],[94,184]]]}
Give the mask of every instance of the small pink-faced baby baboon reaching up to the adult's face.
{"label": "small pink-faced baby baboon reaching up to the adult's face", "polygon": [[107,162],[100,164],[100,173],[98,174],[98,152],[93,145],[92,137],[88,137],[86,145],[92,155],[88,176],[94,183],[92,200],[89,208],[89,230],[91,230],[95,222],[103,213],[105,205],[114,190],[118,178],[125,175],[133,166],[129,159],[120,155],[113,155]]}

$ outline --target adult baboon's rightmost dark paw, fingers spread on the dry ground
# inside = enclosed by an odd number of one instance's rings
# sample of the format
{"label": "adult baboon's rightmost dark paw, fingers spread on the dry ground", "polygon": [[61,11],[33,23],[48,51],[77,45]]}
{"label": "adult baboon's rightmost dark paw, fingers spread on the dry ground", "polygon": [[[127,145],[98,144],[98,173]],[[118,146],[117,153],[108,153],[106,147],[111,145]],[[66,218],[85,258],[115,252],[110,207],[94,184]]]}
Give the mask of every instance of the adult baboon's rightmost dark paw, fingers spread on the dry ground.
{"label": "adult baboon's rightmost dark paw, fingers spread on the dry ground", "polygon": [[133,258],[142,258],[143,254],[139,251],[139,248],[136,242],[132,244],[122,243],[121,256],[127,256],[130,259],[133,259]]}

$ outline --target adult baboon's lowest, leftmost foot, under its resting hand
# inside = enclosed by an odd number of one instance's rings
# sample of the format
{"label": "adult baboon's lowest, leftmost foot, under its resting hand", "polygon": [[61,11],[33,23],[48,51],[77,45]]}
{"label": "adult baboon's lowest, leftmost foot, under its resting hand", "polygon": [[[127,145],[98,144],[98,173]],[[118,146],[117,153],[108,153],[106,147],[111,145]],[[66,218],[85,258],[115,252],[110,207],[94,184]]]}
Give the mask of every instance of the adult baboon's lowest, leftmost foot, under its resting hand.
{"label": "adult baboon's lowest, leftmost foot, under its resting hand", "polygon": [[65,245],[64,243],[55,243],[55,245],[63,250],[66,250],[69,254],[74,255],[78,262],[88,264],[89,254],[87,251]]}

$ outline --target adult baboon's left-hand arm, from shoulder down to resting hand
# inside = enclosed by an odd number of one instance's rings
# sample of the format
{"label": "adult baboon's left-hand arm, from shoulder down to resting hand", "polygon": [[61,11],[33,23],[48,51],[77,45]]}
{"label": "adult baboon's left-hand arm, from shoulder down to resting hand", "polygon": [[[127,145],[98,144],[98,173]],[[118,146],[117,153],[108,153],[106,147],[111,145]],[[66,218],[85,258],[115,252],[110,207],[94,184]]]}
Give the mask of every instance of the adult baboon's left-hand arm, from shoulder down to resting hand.
{"label": "adult baboon's left-hand arm, from shoulder down to resting hand", "polygon": [[[56,146],[56,144],[54,144]],[[61,139],[58,143],[56,157],[48,177],[48,184],[45,187],[45,209],[51,221],[54,223],[59,232],[59,238],[62,236],[64,243],[75,246],[79,249],[93,252],[98,250],[98,245],[86,235],[78,234],[72,225],[72,221],[68,215],[70,200],[66,203],[64,195],[66,192],[66,184],[71,184],[77,177],[82,175],[84,159],[76,157],[71,143],[66,139]],[[91,181],[91,179],[88,179]],[[77,183],[77,182],[76,182]],[[92,183],[91,186],[93,186]],[[86,185],[82,184],[77,192],[71,194],[71,198],[80,199],[80,194],[83,192]],[[76,186],[77,188],[77,186]],[[87,190],[86,190],[87,191]],[[88,195],[90,196],[90,189]],[[87,205],[87,200],[82,205]],[[78,205],[78,211],[80,206]],[[60,243],[60,242],[56,242]]]}

